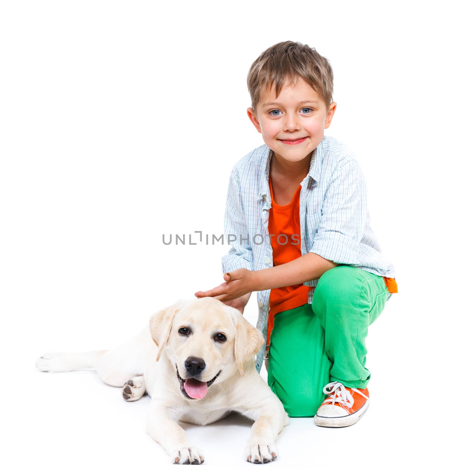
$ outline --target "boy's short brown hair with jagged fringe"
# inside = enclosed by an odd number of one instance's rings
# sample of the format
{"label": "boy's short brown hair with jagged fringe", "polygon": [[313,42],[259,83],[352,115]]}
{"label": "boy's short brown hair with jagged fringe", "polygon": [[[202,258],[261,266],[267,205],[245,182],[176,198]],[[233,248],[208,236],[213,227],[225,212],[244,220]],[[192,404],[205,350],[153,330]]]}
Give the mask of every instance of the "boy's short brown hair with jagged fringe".
{"label": "boy's short brown hair with jagged fringe", "polygon": [[278,97],[288,77],[291,83],[299,77],[307,81],[328,109],[332,102],[334,74],[327,58],[299,41],[281,41],[267,48],[254,61],[247,74],[247,88],[255,113],[263,88],[268,91],[275,82]]}

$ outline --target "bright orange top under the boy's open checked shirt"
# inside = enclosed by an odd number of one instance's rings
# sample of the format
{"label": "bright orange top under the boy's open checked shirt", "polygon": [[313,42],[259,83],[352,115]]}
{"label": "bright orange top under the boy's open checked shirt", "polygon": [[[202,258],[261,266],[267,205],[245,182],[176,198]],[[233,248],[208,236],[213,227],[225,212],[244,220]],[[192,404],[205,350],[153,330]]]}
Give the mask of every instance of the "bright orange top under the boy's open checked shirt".
{"label": "bright orange top under the boy's open checked shirt", "polygon": [[[270,177],[268,177],[268,184],[272,197],[272,208],[270,208],[268,217],[268,233],[274,235],[270,237],[273,249],[273,266],[278,266],[302,256],[300,248],[299,213],[300,191],[302,186],[299,184],[290,203],[281,206],[273,200],[273,189]],[[293,235],[294,238],[292,238]],[[386,278],[383,276],[383,279],[390,293],[398,292],[398,286],[394,278]],[[275,288],[270,291],[267,345],[270,344],[270,334],[273,329],[275,315],[279,312],[307,304],[308,293],[311,289],[313,288],[300,283],[293,286]]]}

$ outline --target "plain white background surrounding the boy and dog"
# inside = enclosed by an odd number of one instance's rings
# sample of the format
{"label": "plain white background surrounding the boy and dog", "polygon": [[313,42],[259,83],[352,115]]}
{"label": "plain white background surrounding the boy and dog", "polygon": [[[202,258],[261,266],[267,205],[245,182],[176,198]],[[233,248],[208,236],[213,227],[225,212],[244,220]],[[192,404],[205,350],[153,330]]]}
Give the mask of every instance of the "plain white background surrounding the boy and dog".
{"label": "plain white background surrounding the boy and dog", "polygon": [[[34,362],[110,348],[223,281],[228,246],[165,246],[162,234],[223,233],[230,171],[263,144],[246,115],[247,71],[285,40],[331,62],[338,106],[326,134],[356,153],[399,294],[369,328],[366,416],[342,429],[292,418],[265,470],[449,465],[459,317],[449,5],[1,2],[2,433],[15,471],[169,464],[144,432],[149,397],[128,404],[93,371],[41,373]],[[245,317],[256,315],[253,294]],[[254,472],[242,457],[251,424],[184,427],[204,466]]]}

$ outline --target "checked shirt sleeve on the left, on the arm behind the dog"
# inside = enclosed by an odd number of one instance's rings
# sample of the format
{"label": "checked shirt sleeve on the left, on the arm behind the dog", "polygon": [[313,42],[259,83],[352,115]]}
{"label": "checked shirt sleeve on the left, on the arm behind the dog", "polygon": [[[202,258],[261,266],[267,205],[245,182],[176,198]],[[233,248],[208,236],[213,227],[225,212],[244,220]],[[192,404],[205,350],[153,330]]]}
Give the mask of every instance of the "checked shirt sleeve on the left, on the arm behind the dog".
{"label": "checked shirt sleeve on the left, on the arm behind the dog", "polygon": [[222,273],[239,268],[253,270],[253,251],[241,196],[240,179],[234,168],[230,174],[224,215],[224,240],[232,248],[222,257]]}

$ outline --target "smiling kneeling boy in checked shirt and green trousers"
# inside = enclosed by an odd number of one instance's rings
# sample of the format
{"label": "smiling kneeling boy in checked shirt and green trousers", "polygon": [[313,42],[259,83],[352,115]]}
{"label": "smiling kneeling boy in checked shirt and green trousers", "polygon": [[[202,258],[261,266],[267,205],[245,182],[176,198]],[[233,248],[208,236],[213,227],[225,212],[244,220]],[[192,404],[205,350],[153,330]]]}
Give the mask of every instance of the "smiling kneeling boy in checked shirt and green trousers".
{"label": "smiling kneeling boy in checked shirt and green trousers", "polygon": [[[290,417],[356,423],[369,404],[368,326],[398,292],[369,226],[366,183],[348,147],[324,136],[337,104],[333,72],[308,45],[268,48],[248,73],[247,109],[266,145],[232,170],[212,296],[243,312],[257,291],[268,385]],[[232,237],[232,238],[230,238]],[[324,394],[327,397],[324,397]]]}

